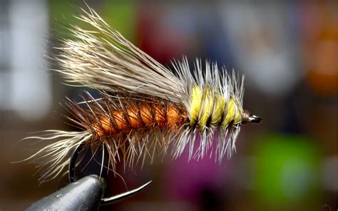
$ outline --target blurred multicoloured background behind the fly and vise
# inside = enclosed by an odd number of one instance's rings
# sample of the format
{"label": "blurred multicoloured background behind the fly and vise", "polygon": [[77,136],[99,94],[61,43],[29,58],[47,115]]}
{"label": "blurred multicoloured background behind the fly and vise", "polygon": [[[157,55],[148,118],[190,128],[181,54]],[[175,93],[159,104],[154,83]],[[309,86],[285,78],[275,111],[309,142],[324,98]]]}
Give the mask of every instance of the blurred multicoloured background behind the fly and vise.
{"label": "blurred multicoloured background behind the fly and vise", "polygon": [[[121,175],[147,190],[102,210],[337,210],[338,4],[320,1],[89,1],[136,46],[164,65],[187,55],[245,74],[244,125],[237,153],[213,159],[165,158]],[[277,3],[278,2],[278,3]],[[82,1],[0,0],[0,210],[23,210],[63,187],[39,185],[29,133],[72,130],[59,103],[83,89],[65,86],[51,41]],[[85,27],[85,26],[83,26]],[[53,29],[53,31],[51,30]],[[160,160],[160,159],[158,159]],[[126,191],[110,175],[109,194]]]}

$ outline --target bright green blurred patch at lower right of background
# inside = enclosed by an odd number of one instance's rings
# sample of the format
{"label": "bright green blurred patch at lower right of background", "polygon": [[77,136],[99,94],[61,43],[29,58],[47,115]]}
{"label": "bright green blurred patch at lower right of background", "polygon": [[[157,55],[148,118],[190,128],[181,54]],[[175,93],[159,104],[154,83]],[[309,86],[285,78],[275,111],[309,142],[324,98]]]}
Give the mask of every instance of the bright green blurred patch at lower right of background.
{"label": "bright green blurred patch at lower right of background", "polygon": [[269,207],[316,205],[322,197],[319,145],[296,135],[266,135],[255,146],[255,192]]}

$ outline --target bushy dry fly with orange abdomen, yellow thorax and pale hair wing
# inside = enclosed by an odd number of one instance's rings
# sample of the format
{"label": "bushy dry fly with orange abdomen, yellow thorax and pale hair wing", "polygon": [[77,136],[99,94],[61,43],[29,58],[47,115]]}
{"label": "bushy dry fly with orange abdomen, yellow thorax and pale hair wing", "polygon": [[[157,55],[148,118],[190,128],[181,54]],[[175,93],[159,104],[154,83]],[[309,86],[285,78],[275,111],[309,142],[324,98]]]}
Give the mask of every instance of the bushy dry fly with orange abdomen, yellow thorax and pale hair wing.
{"label": "bushy dry fly with orange abdomen, yellow thorax and pale hair wing", "polygon": [[[91,25],[68,30],[76,39],[61,39],[54,56],[66,83],[95,88],[84,101],[66,101],[68,119],[81,131],[46,130],[41,140],[55,140],[27,160],[43,170],[41,180],[61,173],[79,146],[108,152],[108,165],[133,166],[155,154],[177,158],[185,148],[189,159],[212,154],[217,160],[235,151],[240,125],[261,118],[242,108],[243,79],[216,63],[186,58],[173,62],[173,70],[155,61],[108,26],[93,9],[77,19]],[[199,143],[195,143],[195,142]]]}

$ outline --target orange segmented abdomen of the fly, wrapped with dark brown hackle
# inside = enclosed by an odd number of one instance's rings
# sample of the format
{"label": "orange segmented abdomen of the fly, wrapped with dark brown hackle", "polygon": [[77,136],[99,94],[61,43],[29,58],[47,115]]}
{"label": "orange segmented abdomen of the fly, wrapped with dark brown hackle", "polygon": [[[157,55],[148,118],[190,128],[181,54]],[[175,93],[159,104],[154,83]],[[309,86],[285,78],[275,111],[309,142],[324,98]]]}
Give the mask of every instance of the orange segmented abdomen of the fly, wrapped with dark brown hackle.
{"label": "orange segmented abdomen of the fly, wrapped with dark brown hackle", "polygon": [[[87,108],[68,102],[77,126],[91,130],[98,138],[129,133],[130,130],[175,130],[188,123],[187,112],[175,104],[160,101],[140,101],[131,98],[115,100],[103,98],[86,104]],[[75,117],[75,118],[74,118]]]}

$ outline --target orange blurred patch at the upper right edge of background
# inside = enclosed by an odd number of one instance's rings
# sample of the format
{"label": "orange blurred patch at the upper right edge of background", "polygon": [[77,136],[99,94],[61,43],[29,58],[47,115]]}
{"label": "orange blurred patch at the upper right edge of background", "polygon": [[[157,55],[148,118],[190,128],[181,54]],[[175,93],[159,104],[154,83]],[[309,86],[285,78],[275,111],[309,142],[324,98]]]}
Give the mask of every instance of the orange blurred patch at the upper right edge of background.
{"label": "orange blurred patch at the upper right edge of background", "polygon": [[[338,85],[338,16],[331,4],[304,6],[306,24],[304,26],[304,52],[309,61],[307,65],[307,83],[321,96],[337,95]],[[337,8],[336,8],[337,9]],[[314,17],[313,14],[320,18]]]}

